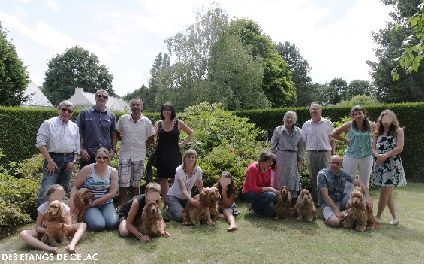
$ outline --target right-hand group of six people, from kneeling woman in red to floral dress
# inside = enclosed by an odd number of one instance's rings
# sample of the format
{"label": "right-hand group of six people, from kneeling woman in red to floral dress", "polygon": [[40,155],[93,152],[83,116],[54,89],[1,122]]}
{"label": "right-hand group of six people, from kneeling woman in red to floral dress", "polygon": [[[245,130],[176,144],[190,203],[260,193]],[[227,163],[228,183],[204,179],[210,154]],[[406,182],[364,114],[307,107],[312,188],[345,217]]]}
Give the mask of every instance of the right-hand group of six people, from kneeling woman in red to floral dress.
{"label": "right-hand group of six people, from kneeling woman in red to floral dress", "polygon": [[[390,223],[397,225],[394,187],[405,185],[406,179],[399,156],[404,146],[404,132],[395,113],[384,110],[373,123],[362,106],[354,106],[351,121],[334,129],[332,122],[322,117],[318,103],[312,103],[309,111],[311,119],[302,129],[295,126],[296,113],[287,111],[284,124],[274,130],[270,151],[249,165],[242,191],[251,211],[274,217],[275,196],[282,186],[296,199],[301,188],[299,168],[306,150],[312,197],[315,204],[321,206],[327,224],[340,224],[341,211],[346,208],[354,186],[361,188],[366,203],[372,206],[368,191],[371,181],[380,187],[376,222],[381,222],[387,206],[392,215]],[[336,140],[347,144],[344,158],[335,155]]]}

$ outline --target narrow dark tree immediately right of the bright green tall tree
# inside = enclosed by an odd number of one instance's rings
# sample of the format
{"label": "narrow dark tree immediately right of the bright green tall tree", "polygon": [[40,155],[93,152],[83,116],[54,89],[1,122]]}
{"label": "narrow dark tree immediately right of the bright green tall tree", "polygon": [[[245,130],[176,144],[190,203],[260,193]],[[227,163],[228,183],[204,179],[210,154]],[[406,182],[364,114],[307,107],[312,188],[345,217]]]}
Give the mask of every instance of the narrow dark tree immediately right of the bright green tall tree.
{"label": "narrow dark tree immediately right of the bright green tall tree", "polygon": [[292,80],[296,87],[296,105],[306,106],[313,101],[316,101],[314,93],[311,93],[313,90],[312,78],[309,77],[311,67],[309,66],[308,61],[300,55],[300,51],[296,45],[288,41],[285,41],[284,43],[280,42],[277,45],[277,50],[287,62],[292,72]]}

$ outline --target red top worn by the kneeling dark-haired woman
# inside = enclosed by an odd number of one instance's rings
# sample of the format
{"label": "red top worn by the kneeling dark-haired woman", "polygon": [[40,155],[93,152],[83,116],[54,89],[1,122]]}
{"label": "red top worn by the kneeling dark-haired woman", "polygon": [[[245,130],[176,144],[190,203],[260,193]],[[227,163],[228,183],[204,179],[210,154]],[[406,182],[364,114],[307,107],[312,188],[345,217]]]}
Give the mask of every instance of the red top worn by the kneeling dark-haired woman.
{"label": "red top worn by the kneeling dark-haired woman", "polygon": [[262,187],[271,186],[271,168],[266,170],[266,172],[261,172],[258,169],[258,162],[253,162],[247,167],[246,178],[243,183],[243,193],[262,192]]}

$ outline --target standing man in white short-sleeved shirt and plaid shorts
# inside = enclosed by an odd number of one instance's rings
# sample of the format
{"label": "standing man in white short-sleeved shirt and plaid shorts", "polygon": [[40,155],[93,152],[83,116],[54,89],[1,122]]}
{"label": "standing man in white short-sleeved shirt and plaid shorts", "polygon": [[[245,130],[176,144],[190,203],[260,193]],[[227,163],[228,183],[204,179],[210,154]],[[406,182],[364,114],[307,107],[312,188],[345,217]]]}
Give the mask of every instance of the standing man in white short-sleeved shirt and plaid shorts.
{"label": "standing man in white short-sleeved shirt and plaid shorts", "polygon": [[[140,192],[140,179],[144,170],[146,157],[146,141],[153,142],[155,130],[152,122],[141,114],[143,102],[140,98],[130,101],[131,114],[122,115],[116,126],[117,138],[122,139],[119,155],[119,211],[127,201],[128,189],[130,197]],[[148,140],[149,139],[149,140]]]}

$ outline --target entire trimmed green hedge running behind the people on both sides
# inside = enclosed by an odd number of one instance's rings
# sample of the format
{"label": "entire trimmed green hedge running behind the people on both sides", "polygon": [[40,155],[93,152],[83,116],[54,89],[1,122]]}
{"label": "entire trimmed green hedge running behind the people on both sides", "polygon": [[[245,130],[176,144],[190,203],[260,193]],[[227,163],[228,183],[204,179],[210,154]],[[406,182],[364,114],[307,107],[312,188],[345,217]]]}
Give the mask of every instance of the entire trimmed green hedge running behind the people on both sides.
{"label": "entire trimmed green hedge running behind the people on both sides", "polygon": [[[421,160],[419,155],[424,149],[424,118],[421,113],[424,103],[401,103],[370,105],[366,109],[371,120],[376,120],[384,109],[393,110],[399,118],[401,126],[405,127],[405,149],[402,159],[407,173],[407,179],[424,182],[422,176]],[[309,111],[304,108],[278,108],[250,111],[235,111],[238,116],[248,117],[259,128],[267,131],[271,137],[274,128],[282,123],[283,115],[287,110],[294,110],[298,115],[298,125],[310,118]],[[324,107],[323,116],[329,117],[333,122],[349,114],[350,108]],[[119,118],[123,113],[115,113]],[[159,119],[159,113],[144,113],[152,121]],[[20,161],[32,157],[37,153],[35,138],[41,123],[57,115],[56,109],[34,109],[22,107],[0,107],[0,148],[6,155],[6,163]],[[78,112],[74,113],[74,118]]]}

